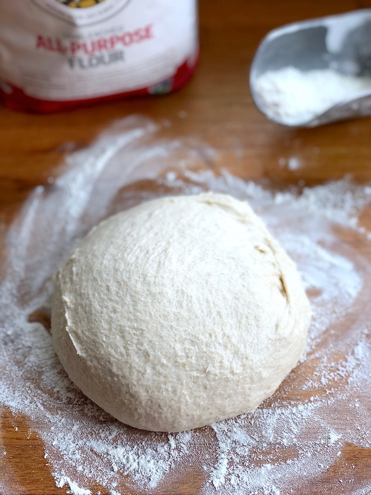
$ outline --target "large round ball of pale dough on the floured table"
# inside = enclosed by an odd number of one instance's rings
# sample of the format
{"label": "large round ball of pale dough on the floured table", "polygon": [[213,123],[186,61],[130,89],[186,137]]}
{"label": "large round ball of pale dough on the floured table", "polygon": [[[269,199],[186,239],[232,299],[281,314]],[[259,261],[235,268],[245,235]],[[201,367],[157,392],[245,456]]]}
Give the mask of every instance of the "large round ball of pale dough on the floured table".
{"label": "large round ball of pale dough on the floured table", "polygon": [[303,354],[295,264],[246,202],[161,198],[112,216],[54,277],[71,380],[128,425],[177,432],[253,411]]}

